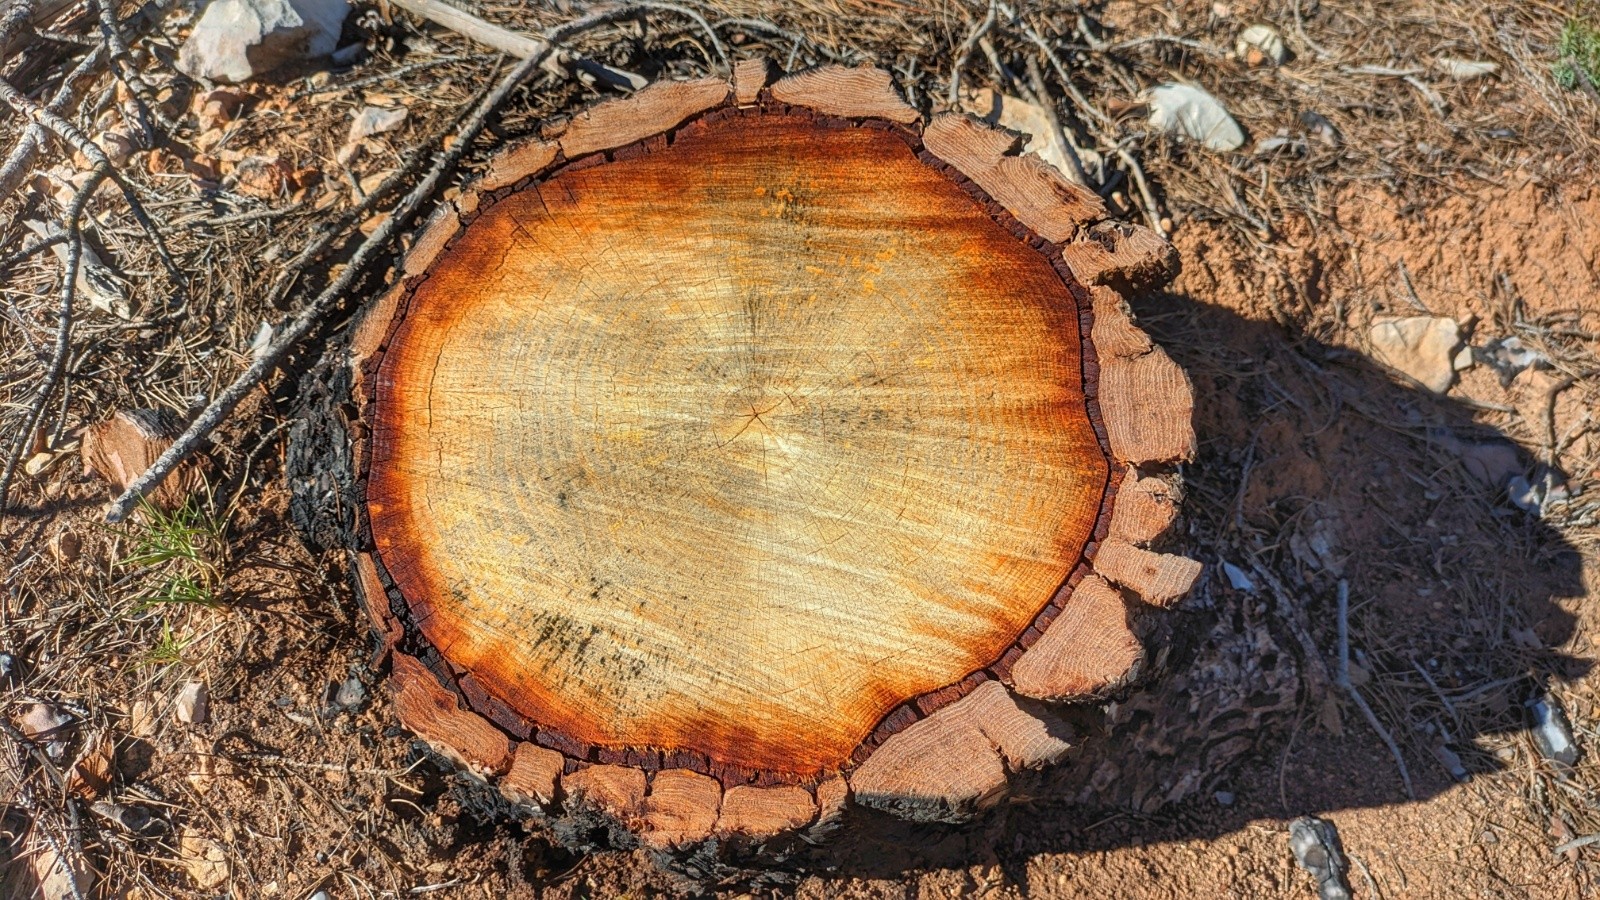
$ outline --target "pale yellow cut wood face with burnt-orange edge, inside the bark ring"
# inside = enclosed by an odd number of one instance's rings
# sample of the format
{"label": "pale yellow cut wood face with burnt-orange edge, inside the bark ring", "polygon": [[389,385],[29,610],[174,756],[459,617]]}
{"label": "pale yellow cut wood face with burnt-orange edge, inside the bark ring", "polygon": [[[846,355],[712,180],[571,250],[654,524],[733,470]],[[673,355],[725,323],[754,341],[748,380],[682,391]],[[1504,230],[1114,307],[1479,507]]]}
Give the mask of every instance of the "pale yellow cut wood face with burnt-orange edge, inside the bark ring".
{"label": "pale yellow cut wood face with burnt-orange edge, inside the bark ring", "polygon": [[379,368],[373,538],[538,729],[813,777],[1078,564],[1082,349],[1051,264],[893,133],[690,127],[435,261]]}

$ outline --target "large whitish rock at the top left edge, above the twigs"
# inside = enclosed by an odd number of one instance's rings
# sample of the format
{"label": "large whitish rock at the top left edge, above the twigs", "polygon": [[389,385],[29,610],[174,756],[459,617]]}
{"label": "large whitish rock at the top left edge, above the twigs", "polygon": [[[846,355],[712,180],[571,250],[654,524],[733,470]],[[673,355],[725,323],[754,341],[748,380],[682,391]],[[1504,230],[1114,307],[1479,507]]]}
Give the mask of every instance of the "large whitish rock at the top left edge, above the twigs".
{"label": "large whitish rock at the top left edge, above the twigs", "polygon": [[333,53],[346,0],[211,0],[178,51],[195,78],[245,82],[285,62]]}

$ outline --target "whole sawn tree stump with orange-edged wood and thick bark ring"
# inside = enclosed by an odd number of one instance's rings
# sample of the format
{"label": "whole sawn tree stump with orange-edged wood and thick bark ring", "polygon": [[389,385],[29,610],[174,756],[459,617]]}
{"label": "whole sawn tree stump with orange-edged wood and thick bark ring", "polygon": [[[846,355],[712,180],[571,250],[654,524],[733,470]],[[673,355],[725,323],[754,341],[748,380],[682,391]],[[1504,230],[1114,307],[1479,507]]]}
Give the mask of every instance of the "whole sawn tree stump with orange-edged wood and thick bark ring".
{"label": "whole sawn tree stump with orange-edged wood and thick bark ring", "polygon": [[494,157],[350,340],[402,722],[683,849],[962,822],[1142,660],[1194,448],[1155,234],[877,69],[658,83]]}

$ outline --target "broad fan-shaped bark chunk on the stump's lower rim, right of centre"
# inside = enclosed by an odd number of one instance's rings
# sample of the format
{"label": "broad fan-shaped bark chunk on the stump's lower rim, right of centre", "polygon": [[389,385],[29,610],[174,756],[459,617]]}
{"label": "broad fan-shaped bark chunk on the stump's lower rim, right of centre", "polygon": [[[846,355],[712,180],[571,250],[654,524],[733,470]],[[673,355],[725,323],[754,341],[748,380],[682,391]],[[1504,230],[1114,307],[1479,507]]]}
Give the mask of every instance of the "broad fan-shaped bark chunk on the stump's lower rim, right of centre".
{"label": "broad fan-shaped bark chunk on the stump's lower rim, right of centre", "polygon": [[962,701],[883,741],[850,773],[856,801],[914,822],[966,822],[1006,791],[1000,753]]}

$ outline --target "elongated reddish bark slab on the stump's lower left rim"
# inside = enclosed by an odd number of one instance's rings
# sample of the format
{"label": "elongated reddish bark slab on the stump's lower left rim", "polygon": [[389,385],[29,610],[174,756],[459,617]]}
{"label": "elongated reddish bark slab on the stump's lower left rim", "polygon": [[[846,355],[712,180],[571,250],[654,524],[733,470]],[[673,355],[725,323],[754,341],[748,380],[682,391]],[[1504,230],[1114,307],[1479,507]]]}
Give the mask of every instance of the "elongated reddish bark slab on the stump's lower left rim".
{"label": "elongated reddish bark slab on the stump's lower left rim", "polygon": [[435,751],[477,775],[499,775],[510,764],[510,740],[477,713],[461,709],[434,673],[405,653],[390,653],[400,724]]}

